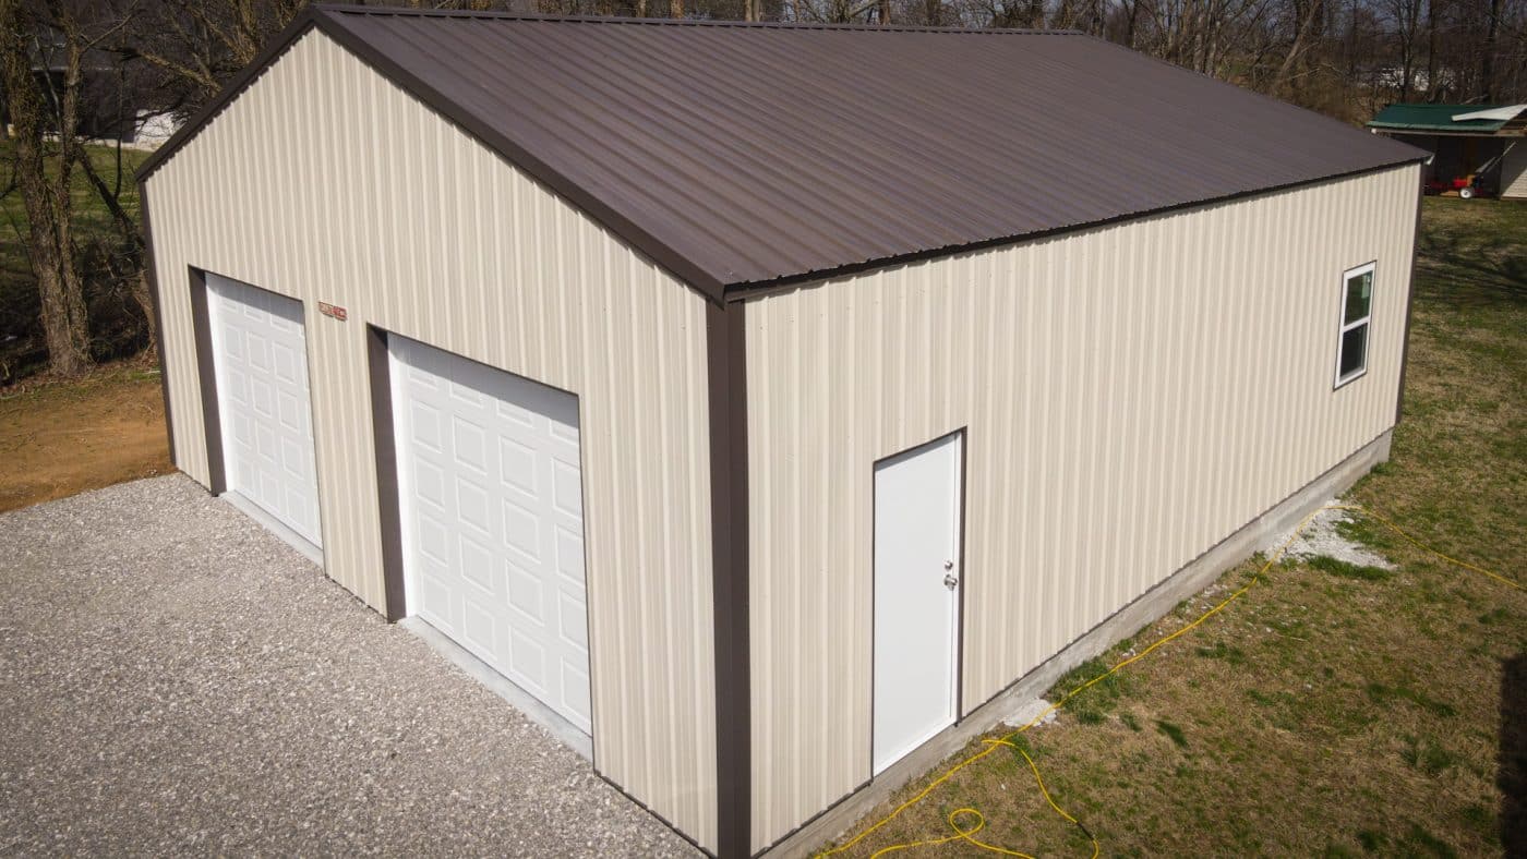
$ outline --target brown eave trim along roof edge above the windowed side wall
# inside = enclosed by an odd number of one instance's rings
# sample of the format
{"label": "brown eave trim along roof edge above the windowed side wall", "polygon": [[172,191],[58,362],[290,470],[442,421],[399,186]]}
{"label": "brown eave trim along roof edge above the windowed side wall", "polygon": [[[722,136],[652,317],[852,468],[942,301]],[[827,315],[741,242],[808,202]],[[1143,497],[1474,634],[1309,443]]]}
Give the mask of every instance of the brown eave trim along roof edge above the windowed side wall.
{"label": "brown eave trim along roof edge above the windowed side wall", "polygon": [[1309,188],[1309,186],[1313,186],[1313,185],[1321,185],[1324,182],[1333,182],[1333,180],[1338,180],[1338,179],[1353,179],[1353,177],[1359,177],[1359,175],[1368,175],[1368,174],[1383,172],[1383,171],[1388,171],[1388,169],[1399,169],[1402,166],[1409,166],[1412,163],[1425,163],[1431,157],[1432,157],[1431,153],[1420,153],[1420,154],[1408,157],[1408,159],[1399,159],[1399,160],[1385,162],[1385,163],[1380,163],[1380,165],[1373,165],[1373,166],[1350,169],[1350,171],[1345,171],[1345,172],[1333,172],[1330,175],[1319,175],[1319,177],[1315,177],[1315,179],[1301,179],[1298,182],[1287,182],[1287,183],[1283,183],[1283,185],[1270,185],[1267,188],[1255,188],[1255,189],[1251,189],[1251,191],[1237,191],[1235,194],[1225,194],[1222,197],[1208,197],[1208,198],[1203,198],[1203,200],[1190,200],[1190,201],[1185,201],[1185,203],[1174,203],[1171,206],[1162,206],[1162,208],[1157,208],[1157,209],[1144,209],[1141,212],[1127,212],[1127,214],[1122,214],[1122,215],[1115,215],[1112,218],[1102,218],[1102,220],[1098,220],[1098,221],[1084,221],[1084,223],[1080,223],[1080,224],[1067,224],[1067,226],[1063,226],[1063,227],[1055,227],[1055,229],[1048,229],[1048,230],[1034,230],[1034,232],[1026,232],[1026,233],[1015,233],[1015,235],[1006,235],[1006,236],[997,236],[997,238],[986,238],[986,240],[982,240],[982,241],[971,241],[971,243],[967,243],[967,244],[950,244],[950,246],[944,246],[944,247],[931,247],[931,249],[927,249],[927,250],[915,250],[915,252],[910,252],[910,253],[898,253],[895,256],[880,256],[880,258],[875,258],[875,259],[866,259],[863,262],[852,262],[852,264],[838,265],[838,267],[834,267],[834,269],[817,269],[817,270],[812,270],[812,272],[802,272],[799,275],[785,275],[782,278],[773,278],[773,279],[768,279],[768,281],[739,281],[739,282],[727,284],[725,299],[728,302],[731,302],[731,301],[747,301],[750,298],[757,298],[760,294],[767,294],[767,293],[771,293],[771,291],[776,291],[776,290],[794,290],[794,288],[800,288],[800,287],[806,287],[806,285],[812,285],[812,284],[822,284],[822,282],[826,282],[826,281],[835,281],[838,278],[847,278],[847,276],[854,276],[854,275],[864,275],[867,272],[875,272],[875,270],[880,270],[880,269],[892,269],[895,265],[907,265],[910,262],[921,262],[921,261],[925,261],[925,259],[942,259],[945,256],[954,256],[957,253],[968,253],[968,252],[973,252],[973,250],[989,250],[989,249],[994,249],[994,247],[1008,247],[1008,246],[1014,246],[1014,244],[1023,244],[1023,243],[1028,243],[1028,241],[1038,241],[1038,240],[1044,240],[1044,238],[1055,238],[1055,236],[1061,236],[1061,235],[1066,235],[1066,233],[1075,233],[1075,232],[1084,232],[1084,230],[1098,229],[1098,227],[1107,227],[1107,226],[1121,224],[1121,223],[1125,223],[1125,221],[1138,221],[1138,220],[1144,220],[1144,218],[1154,218],[1154,217],[1167,215],[1167,214],[1171,214],[1171,212],[1180,212],[1183,209],[1196,209],[1196,208],[1200,208],[1200,206],[1217,206],[1220,203],[1232,203],[1235,200],[1245,200],[1248,197],[1261,197],[1264,194],[1278,194],[1278,192],[1283,192],[1283,191],[1298,191],[1301,188]]}

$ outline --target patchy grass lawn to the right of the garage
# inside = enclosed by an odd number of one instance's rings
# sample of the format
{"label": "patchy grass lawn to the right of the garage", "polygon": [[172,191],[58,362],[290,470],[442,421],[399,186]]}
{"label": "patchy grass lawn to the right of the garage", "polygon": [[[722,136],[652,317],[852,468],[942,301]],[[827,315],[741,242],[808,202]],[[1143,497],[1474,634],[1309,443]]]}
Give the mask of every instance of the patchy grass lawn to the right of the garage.
{"label": "patchy grass lawn to the right of the garage", "polygon": [[[1527,203],[1428,198],[1423,230],[1405,417],[1391,462],[1348,499],[1524,580]],[[1498,784],[1503,761],[1527,758],[1527,592],[1382,528],[1348,531],[1399,569],[1277,565],[1245,598],[1023,734],[1055,803],[1104,854],[1527,853],[1527,821]],[[1258,566],[1229,571],[1051,694],[1180,629]],[[844,839],[983,748],[913,781]],[[1516,795],[1527,801],[1519,781]],[[962,807],[985,816],[976,838],[986,844],[1092,853],[1002,746],[843,854],[948,836]]]}

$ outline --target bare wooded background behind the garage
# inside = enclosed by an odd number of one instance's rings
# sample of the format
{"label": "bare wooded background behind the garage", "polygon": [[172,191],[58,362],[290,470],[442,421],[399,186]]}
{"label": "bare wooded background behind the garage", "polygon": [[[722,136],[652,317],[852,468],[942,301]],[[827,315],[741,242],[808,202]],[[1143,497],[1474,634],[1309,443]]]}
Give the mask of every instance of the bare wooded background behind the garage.
{"label": "bare wooded background behind the garage", "polygon": [[[0,0],[0,386],[154,348],[122,137],[206,104],[305,0]],[[362,3],[368,5],[368,3]],[[460,0],[370,3],[1077,29],[1345,122],[1527,99],[1527,0]],[[654,56],[661,63],[661,56]],[[1014,85],[1023,85],[1014,81]],[[1212,124],[1215,117],[1206,116]],[[991,157],[1003,157],[991,153]],[[788,153],[780,153],[788,160]],[[938,156],[935,156],[938,157]],[[1057,180],[1086,163],[1054,165]]]}

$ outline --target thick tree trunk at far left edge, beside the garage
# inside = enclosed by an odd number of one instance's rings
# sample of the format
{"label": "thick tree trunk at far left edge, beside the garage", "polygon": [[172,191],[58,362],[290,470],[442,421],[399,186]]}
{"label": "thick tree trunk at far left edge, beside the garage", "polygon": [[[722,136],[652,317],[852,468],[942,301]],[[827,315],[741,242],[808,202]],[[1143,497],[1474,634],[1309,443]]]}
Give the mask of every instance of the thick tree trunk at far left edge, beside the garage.
{"label": "thick tree trunk at far left edge, beside the garage", "polygon": [[[90,330],[79,272],[75,267],[73,230],[67,223],[73,215],[67,185],[70,172],[63,168],[60,185],[52,186],[46,171],[43,148],[47,124],[43,117],[43,98],[32,76],[32,46],[27,43],[29,34],[35,29],[37,21],[21,9],[20,0],[0,0],[0,81],[11,105],[15,182],[26,206],[27,256],[41,298],[43,339],[47,343],[49,369],[55,375],[72,377],[90,366]],[[78,110],[79,95],[78,50],[72,52],[70,60],[76,85],[72,95],[66,85],[66,110],[72,119]],[[64,131],[60,134],[60,143],[72,153],[69,146],[73,125],[60,131]],[[78,140],[72,145],[78,145]],[[64,223],[60,218],[64,218]]]}

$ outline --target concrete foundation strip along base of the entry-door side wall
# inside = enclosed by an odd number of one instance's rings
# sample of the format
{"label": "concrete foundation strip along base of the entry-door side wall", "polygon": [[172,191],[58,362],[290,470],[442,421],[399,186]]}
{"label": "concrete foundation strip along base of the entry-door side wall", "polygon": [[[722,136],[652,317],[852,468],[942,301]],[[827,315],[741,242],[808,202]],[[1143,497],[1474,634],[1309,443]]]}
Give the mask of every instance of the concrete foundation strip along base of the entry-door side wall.
{"label": "concrete foundation strip along base of the entry-door side wall", "polygon": [[[1220,540],[1214,548],[1135,598],[1135,601],[1110,615],[1101,624],[1092,627],[1092,630],[1072,641],[1055,656],[1041,662],[1037,668],[999,693],[997,697],[968,713],[962,720],[892,764],[886,772],[854,793],[838,799],[835,806],[788,835],[767,850],[765,854],[771,857],[806,856],[811,850],[822,847],[828,841],[844,835],[857,835],[860,827],[855,824],[860,824],[864,815],[889,799],[892,793],[909,781],[936,777],[938,774],[930,772],[935,766],[1044,694],[1066,671],[1098,656],[1125,636],[1139,632],[1176,607],[1177,603],[1212,584],[1222,572],[1252,554],[1277,549],[1280,536],[1292,531],[1306,516],[1356,484],[1374,465],[1390,459],[1393,432],[1393,429],[1385,430],[1383,435],[1370,441],[1335,468],[1283,499],[1283,502],[1246,523],[1240,531]],[[872,825],[873,822],[866,819],[863,825]]]}

